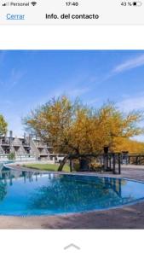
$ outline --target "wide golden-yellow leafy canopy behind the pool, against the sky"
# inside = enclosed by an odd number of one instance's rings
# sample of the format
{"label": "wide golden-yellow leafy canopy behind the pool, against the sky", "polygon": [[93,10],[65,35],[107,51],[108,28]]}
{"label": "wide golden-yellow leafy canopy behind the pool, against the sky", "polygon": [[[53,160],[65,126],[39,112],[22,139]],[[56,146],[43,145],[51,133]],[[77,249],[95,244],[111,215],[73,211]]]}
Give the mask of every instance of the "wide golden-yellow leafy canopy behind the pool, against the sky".
{"label": "wide golden-yellow leafy canopy behind the pool, against the sky", "polygon": [[61,96],[32,111],[24,123],[55,153],[100,154],[104,146],[115,151],[124,139],[141,134],[141,119],[142,113],[124,114],[112,102],[95,109]]}

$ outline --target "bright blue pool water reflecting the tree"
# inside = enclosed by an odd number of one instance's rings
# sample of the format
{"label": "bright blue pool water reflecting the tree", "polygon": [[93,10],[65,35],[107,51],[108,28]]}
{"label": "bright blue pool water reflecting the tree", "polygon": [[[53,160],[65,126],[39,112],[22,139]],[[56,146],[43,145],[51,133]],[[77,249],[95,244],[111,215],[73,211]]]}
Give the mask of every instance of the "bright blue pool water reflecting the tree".
{"label": "bright blue pool water reflecting the tree", "polygon": [[0,173],[0,214],[44,215],[120,207],[144,199],[144,183],[110,177]]}

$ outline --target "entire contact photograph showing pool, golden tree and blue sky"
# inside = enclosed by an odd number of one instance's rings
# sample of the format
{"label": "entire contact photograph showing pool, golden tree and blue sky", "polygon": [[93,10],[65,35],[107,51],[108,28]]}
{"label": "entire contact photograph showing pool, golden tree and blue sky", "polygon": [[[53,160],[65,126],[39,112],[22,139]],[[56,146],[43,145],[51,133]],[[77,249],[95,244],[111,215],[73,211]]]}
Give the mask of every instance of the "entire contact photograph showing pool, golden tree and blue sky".
{"label": "entire contact photograph showing pool, golden tree and blue sky", "polygon": [[0,50],[0,229],[144,229],[144,50]]}

